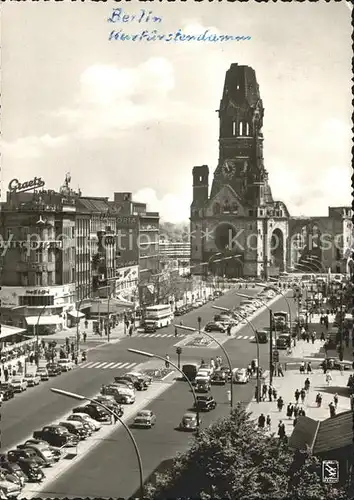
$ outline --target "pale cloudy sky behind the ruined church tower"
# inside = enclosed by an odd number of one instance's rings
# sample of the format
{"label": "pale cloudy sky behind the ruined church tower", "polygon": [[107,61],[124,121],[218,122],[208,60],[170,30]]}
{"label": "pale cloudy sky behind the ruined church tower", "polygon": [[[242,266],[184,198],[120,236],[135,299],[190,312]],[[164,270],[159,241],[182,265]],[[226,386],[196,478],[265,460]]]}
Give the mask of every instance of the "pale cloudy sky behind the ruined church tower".
{"label": "pale cloudy sky behind the ruined church tower", "polygon": [[[112,9],[158,24],[107,23]],[[189,217],[192,168],[218,159],[225,71],[252,66],[264,157],[292,215],[350,205],[351,26],[344,2],[2,4],[2,195],[13,177],[65,173],[84,195],[133,192],[164,220]],[[108,41],[139,33],[248,35],[242,42]]]}

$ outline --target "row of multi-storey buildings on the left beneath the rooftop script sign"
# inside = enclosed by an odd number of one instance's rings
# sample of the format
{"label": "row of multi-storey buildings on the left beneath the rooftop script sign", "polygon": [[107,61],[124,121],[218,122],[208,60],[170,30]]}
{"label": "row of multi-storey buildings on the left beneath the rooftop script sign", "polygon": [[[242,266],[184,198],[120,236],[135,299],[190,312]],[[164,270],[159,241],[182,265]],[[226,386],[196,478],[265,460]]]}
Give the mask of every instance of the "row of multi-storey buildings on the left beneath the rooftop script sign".
{"label": "row of multi-storey buildings on the left beneath the rooftop script sign", "polygon": [[141,214],[122,215],[108,198],[73,191],[69,175],[58,192],[38,184],[11,181],[1,204],[2,323],[48,334],[74,326],[92,299],[137,302],[139,264],[158,270],[156,245],[145,258],[139,235],[158,241],[158,214],[140,204]]}

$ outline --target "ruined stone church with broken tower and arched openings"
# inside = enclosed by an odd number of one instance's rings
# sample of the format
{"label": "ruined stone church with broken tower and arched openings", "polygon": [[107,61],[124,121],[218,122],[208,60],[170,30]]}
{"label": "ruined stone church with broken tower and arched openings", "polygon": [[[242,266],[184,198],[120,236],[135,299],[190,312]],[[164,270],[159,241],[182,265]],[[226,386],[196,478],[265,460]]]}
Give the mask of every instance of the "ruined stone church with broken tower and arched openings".
{"label": "ruined stone church with broken tower and arched openings", "polygon": [[267,278],[291,270],[345,272],[351,209],[291,217],[272,196],[263,158],[264,107],[252,68],[231,65],[218,114],[219,159],[211,186],[209,167],[193,168],[192,273]]}

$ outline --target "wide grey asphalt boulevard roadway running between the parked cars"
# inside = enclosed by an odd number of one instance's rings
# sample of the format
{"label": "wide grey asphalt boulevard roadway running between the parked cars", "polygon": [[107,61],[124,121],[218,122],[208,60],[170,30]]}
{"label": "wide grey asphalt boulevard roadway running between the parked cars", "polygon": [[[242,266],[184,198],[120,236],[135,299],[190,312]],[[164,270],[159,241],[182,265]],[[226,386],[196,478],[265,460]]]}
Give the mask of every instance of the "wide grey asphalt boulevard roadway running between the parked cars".
{"label": "wide grey asphalt boulevard roadway running between the parked cars", "polygon": [[[240,292],[255,295],[259,289],[242,289]],[[236,295],[237,289],[232,289],[226,295],[220,297],[213,303],[193,310],[190,313],[176,318],[183,324],[197,327],[198,316],[202,317],[202,326],[212,320],[217,311],[212,305],[231,308],[239,304],[242,298]],[[288,299],[292,313],[295,313],[293,299]],[[280,298],[272,305],[273,311],[287,311],[287,304]],[[252,320],[255,328],[269,325],[269,311],[264,311]],[[163,330],[164,333],[174,333],[172,326]],[[238,336],[248,336],[248,339],[238,339]],[[227,349],[234,367],[246,367],[251,359],[256,357],[256,344],[249,339],[253,337],[252,329],[245,325],[235,337],[231,337],[224,347]],[[120,342],[95,348],[90,351],[89,361],[103,362],[144,362],[141,358],[127,351],[128,348],[141,349],[162,356],[167,353],[172,360],[176,359],[174,345],[181,340],[170,337],[154,337],[137,335],[132,338],[123,338]],[[220,349],[183,347],[181,363],[188,361],[200,361],[222,354]],[[268,368],[269,346],[260,345],[260,365]],[[157,365],[158,365],[157,361]],[[89,365],[88,365],[89,366]],[[49,382],[42,383],[39,387],[31,389],[26,393],[16,396],[7,402],[2,409],[2,444],[3,448],[9,449],[22,442],[36,429],[70,411],[75,402],[65,397],[53,394],[49,388],[58,387],[72,392],[78,392],[86,396],[93,396],[99,392],[103,383],[113,380],[114,375],[123,370],[89,369],[77,368],[73,372],[61,375]],[[173,376],[171,377],[171,381]],[[212,387],[212,395],[218,405],[215,410],[202,415],[202,426],[207,426],[217,418],[227,415],[229,403],[226,387]],[[248,403],[253,397],[254,383],[247,385],[236,385],[234,387],[235,401]],[[188,386],[181,381],[171,383],[171,387],[154,400],[149,408],[157,415],[157,424],[154,428],[143,430],[133,429],[144,466],[144,476],[149,477],[162,461],[174,457],[176,452],[187,448],[190,436],[179,432],[178,426],[183,414],[193,406],[192,394]],[[40,493],[44,497],[124,497],[129,498],[138,487],[139,475],[136,456],[124,429],[117,428],[109,440],[100,443],[87,456],[77,463],[72,463],[68,472],[58,477],[54,482]]]}

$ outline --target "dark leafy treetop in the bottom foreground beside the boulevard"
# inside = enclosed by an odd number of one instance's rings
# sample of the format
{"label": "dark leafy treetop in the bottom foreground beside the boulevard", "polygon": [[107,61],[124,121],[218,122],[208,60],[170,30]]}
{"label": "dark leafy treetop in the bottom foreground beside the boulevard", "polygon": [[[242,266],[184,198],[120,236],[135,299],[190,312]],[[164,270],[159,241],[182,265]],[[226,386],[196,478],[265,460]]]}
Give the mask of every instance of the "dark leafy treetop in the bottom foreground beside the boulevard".
{"label": "dark leafy treetop in the bottom foreground beside the boulevard", "polygon": [[195,436],[171,470],[148,484],[149,499],[344,500],[344,490],[321,482],[320,463],[294,453],[274,435],[255,429],[239,404],[230,417]]}

